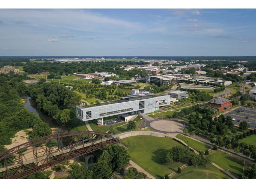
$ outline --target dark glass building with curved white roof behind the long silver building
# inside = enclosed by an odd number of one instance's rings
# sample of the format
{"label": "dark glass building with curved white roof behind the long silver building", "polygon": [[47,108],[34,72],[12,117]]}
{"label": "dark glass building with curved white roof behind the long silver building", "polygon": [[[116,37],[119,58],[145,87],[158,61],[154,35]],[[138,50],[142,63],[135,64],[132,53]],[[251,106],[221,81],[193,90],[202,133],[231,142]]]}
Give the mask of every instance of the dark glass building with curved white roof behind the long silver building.
{"label": "dark glass building with curved white roof behind the long silver building", "polygon": [[169,79],[161,77],[161,76],[150,76],[150,75],[139,76],[139,75],[135,75],[134,80],[139,81],[139,82],[144,82],[146,84],[155,83],[158,86],[163,86],[163,85],[169,86]]}

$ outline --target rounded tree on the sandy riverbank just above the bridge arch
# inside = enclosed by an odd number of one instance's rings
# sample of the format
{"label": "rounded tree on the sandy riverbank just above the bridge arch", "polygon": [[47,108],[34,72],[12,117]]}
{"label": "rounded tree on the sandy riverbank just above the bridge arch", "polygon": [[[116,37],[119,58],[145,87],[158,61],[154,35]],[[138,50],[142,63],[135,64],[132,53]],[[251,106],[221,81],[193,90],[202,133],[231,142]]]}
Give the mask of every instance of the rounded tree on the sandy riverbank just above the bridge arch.
{"label": "rounded tree on the sandy riverbank just above the bridge arch", "polygon": [[48,136],[52,134],[52,129],[47,123],[41,122],[33,126],[33,130],[29,136],[31,140]]}

